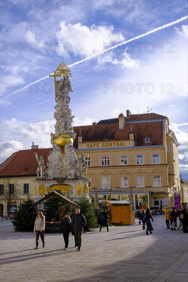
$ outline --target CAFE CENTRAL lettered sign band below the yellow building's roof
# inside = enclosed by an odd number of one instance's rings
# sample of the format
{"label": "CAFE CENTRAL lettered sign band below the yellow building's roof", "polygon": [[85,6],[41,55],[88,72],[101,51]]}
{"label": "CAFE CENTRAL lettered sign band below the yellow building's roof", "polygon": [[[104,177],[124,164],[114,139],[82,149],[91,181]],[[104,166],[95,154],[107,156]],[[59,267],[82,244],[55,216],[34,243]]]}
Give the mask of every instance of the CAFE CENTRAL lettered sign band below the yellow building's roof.
{"label": "CAFE CENTRAL lettered sign band below the yellow building's roof", "polygon": [[116,140],[105,142],[87,142],[79,143],[78,149],[92,149],[92,148],[110,148],[110,147],[133,147],[134,140]]}

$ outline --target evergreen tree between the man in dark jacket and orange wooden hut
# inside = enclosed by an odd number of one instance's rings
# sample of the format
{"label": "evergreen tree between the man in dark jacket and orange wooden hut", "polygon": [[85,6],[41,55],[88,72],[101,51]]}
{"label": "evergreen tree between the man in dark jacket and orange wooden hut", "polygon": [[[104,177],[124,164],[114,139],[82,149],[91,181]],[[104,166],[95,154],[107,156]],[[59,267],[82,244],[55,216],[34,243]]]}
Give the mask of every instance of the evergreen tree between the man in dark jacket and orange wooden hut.
{"label": "evergreen tree between the man in dark jacket and orange wooden hut", "polygon": [[87,221],[84,231],[93,230],[97,225],[97,217],[95,211],[93,211],[93,205],[89,202],[89,199],[84,196],[80,198],[77,205],[80,207],[81,213],[85,216]]}

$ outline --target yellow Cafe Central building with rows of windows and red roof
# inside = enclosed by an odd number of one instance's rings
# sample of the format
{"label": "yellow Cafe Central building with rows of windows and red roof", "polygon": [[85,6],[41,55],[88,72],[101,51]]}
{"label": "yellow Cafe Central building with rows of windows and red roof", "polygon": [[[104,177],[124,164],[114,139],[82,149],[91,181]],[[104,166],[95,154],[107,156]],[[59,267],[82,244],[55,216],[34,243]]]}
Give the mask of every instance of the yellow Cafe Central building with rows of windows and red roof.
{"label": "yellow Cafe Central building with rows of windows and red roof", "polygon": [[[104,130],[111,130],[110,125],[115,127],[116,124],[118,125],[116,131],[123,132],[127,127],[128,130],[123,134],[125,138],[116,140],[103,139],[92,142],[85,135],[86,131],[92,131],[91,126],[89,129],[80,127],[76,151],[77,154],[84,155],[88,166],[86,176],[90,178],[89,195],[94,198],[97,189],[100,200],[129,200],[131,188],[135,209],[173,206],[174,192],[180,187],[179,144],[176,137],[168,129],[169,122],[164,116],[156,114],[138,115],[138,118],[135,118],[137,115],[133,116],[133,121],[130,117],[128,119],[120,114],[116,120],[108,119],[99,124],[93,123],[92,127],[95,129],[98,125],[103,125]],[[161,130],[159,126],[156,127],[160,123]],[[147,128],[147,132],[144,127],[142,132],[140,131],[143,141],[141,146],[138,146],[137,142],[139,124],[145,124]],[[161,135],[161,142],[156,138],[156,142],[152,144],[154,136],[151,135],[149,128],[154,128],[153,135]]]}

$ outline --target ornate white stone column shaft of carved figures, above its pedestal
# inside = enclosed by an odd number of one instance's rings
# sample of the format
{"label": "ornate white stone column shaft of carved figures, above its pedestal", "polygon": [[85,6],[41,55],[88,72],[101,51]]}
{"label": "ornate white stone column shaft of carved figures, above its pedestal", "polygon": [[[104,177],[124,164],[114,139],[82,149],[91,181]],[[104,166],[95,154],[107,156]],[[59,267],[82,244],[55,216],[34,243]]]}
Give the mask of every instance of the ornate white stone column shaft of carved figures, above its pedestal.
{"label": "ornate white stone column shaft of carved figures, above its pedestal", "polygon": [[77,159],[77,155],[74,152],[72,143],[66,143],[61,149],[54,143],[54,139],[61,133],[68,133],[70,138],[75,139],[76,133],[73,130],[73,118],[71,110],[69,108],[70,97],[69,93],[73,92],[68,75],[59,81],[57,81],[57,89],[55,95],[55,101],[57,104],[54,109],[55,133],[51,133],[50,143],[53,145],[53,151],[48,156],[48,170],[47,177],[52,178],[67,178],[78,179],[83,178],[82,174],[86,170],[85,161],[83,155]]}

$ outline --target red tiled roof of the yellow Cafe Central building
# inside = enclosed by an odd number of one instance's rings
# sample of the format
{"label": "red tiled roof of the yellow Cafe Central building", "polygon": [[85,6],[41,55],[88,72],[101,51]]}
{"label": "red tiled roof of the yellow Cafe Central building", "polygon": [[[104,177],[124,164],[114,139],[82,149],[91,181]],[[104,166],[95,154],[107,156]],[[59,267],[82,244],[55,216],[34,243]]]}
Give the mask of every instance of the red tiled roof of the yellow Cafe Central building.
{"label": "red tiled roof of the yellow Cafe Central building", "polygon": [[[125,120],[124,129],[119,129],[119,119],[112,118],[100,120],[96,126],[79,126],[74,127],[74,131],[79,134],[81,129],[81,136],[83,142],[103,141],[103,140],[129,140],[130,125],[132,126],[132,132],[134,133],[135,146],[148,146],[148,145],[163,145],[163,122],[157,122],[157,119],[164,119],[165,116],[150,113],[130,115]],[[149,122],[149,119],[156,119],[156,122]],[[138,123],[136,121],[138,120]],[[139,122],[140,120],[148,120],[148,122]],[[134,123],[131,123],[134,121]],[[129,122],[129,123],[126,123]],[[131,133],[132,133],[131,132]],[[144,139],[149,137],[151,143],[144,143]],[[74,148],[78,149],[78,138],[74,140]]]}

